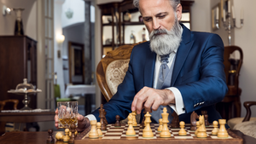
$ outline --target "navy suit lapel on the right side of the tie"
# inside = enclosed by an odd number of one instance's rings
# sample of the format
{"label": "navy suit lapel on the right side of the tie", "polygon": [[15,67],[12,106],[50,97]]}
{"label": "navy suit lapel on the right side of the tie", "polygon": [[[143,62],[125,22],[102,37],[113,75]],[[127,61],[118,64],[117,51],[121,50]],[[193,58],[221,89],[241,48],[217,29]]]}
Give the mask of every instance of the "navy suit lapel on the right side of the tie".
{"label": "navy suit lapel on the right side of the tie", "polygon": [[[181,26],[183,26],[183,24],[181,24]],[[194,41],[190,41],[191,32],[189,31],[189,29],[186,26],[183,26],[183,36],[182,37],[183,37],[183,40],[180,43],[179,48],[177,49],[176,60],[175,60],[175,64],[174,64],[173,72],[172,72],[171,86],[173,86],[175,84],[177,75],[181,71],[184,62],[189,55],[189,51],[194,43]]]}

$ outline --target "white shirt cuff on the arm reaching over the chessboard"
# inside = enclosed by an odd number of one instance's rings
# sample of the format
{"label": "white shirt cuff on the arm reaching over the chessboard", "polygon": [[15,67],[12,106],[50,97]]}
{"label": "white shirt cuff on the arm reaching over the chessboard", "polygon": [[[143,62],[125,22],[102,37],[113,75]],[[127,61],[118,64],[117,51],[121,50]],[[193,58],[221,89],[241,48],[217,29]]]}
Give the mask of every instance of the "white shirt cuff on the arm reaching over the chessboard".
{"label": "white shirt cuff on the arm reaching over the chessboard", "polygon": [[181,95],[180,91],[175,87],[166,89],[171,90],[175,97],[175,104],[169,104],[169,106],[177,113],[177,115],[185,113],[183,96]]}

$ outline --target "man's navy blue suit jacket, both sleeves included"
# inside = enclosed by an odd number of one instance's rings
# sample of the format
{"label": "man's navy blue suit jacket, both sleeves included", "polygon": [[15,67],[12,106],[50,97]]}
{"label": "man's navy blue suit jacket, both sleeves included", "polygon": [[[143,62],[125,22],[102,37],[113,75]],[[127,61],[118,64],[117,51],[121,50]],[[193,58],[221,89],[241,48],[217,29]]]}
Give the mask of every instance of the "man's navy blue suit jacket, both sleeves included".
{"label": "man's navy blue suit jacket, both sleeves included", "polygon": [[[156,54],[150,50],[149,43],[138,44],[132,49],[124,81],[104,105],[110,124],[115,123],[116,115],[121,119],[128,116],[133,97],[140,89],[144,86],[153,87]],[[190,123],[191,112],[201,114],[202,110],[207,110],[210,123],[221,118],[214,104],[222,101],[227,92],[223,57],[224,44],[217,34],[190,32],[183,26],[182,42],[177,49],[171,82],[171,86],[179,89],[183,97],[186,112],[179,115],[180,121]],[[97,121],[100,120],[98,110],[92,114]]]}

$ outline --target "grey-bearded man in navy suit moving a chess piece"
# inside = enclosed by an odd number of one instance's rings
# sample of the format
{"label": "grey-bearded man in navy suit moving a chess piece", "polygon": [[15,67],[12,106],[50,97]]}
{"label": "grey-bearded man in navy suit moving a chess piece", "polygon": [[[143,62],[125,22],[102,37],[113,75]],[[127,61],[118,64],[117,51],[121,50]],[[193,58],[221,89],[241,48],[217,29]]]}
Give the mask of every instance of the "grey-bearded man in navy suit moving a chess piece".
{"label": "grey-bearded man in navy suit moving a chess piece", "polygon": [[[104,109],[108,124],[115,116],[125,119],[131,111],[150,112],[152,123],[158,123],[167,107],[169,123],[172,112],[189,124],[190,114],[208,112],[208,120],[220,119],[214,104],[227,92],[224,74],[224,43],[217,34],[192,32],[179,23],[180,0],[134,0],[149,33],[149,41],[136,45],[131,52],[128,71],[118,91]],[[56,111],[57,113],[57,111]],[[79,115],[79,130],[100,121],[99,111]],[[55,126],[58,117],[55,116]]]}

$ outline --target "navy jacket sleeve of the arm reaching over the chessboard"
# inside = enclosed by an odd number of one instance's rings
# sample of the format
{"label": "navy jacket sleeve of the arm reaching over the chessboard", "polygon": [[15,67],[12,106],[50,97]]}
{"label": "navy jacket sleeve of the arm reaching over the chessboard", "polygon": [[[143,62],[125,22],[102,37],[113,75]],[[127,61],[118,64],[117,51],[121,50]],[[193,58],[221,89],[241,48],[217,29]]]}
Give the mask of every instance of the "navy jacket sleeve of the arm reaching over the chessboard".
{"label": "navy jacket sleeve of the arm reaching over the chessboard", "polygon": [[[222,101],[228,90],[224,73],[222,39],[216,34],[211,34],[204,43],[195,42],[192,48],[195,47],[201,47],[201,50],[195,54],[194,60],[190,57],[190,62],[186,65],[194,65],[195,68],[183,74],[180,82],[175,84],[183,96],[187,113]],[[193,52],[193,49],[191,51]]]}

